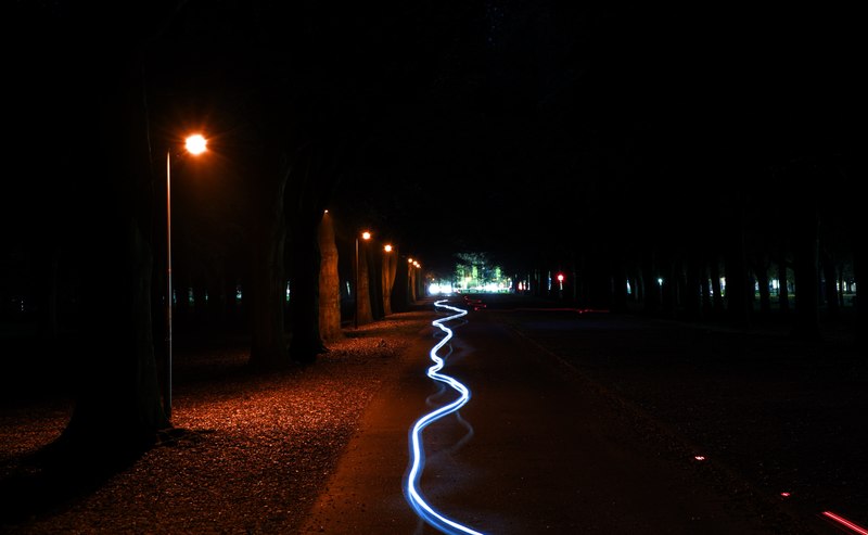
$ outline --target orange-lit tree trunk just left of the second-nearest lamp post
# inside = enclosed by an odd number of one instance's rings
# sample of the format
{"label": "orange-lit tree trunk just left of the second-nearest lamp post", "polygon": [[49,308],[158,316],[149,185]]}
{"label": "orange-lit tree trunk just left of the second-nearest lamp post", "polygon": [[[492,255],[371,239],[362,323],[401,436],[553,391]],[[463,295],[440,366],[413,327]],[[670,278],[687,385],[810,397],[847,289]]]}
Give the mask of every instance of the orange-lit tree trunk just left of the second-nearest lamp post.
{"label": "orange-lit tree trunk just left of the second-nearest lamp post", "polygon": [[337,275],[337,245],[334,220],[323,214],[319,224],[319,334],[324,343],[341,340],[341,279]]}

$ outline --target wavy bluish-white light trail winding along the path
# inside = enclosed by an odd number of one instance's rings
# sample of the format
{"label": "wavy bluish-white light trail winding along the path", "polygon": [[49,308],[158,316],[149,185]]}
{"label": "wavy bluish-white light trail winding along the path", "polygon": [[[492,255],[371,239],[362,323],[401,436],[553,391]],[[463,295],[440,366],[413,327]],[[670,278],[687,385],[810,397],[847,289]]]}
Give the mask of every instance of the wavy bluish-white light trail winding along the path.
{"label": "wavy bluish-white light trail winding along the path", "polygon": [[421,445],[421,434],[422,430],[424,430],[430,423],[439,420],[441,418],[450,415],[458,409],[460,409],[468,400],[470,400],[470,390],[467,386],[458,382],[457,380],[450,378],[449,375],[445,375],[439,373],[443,369],[445,361],[443,358],[437,356],[437,351],[446,345],[449,340],[452,337],[452,331],[448,327],[444,326],[447,321],[454,320],[456,318],[460,318],[468,314],[467,310],[461,308],[457,308],[449,305],[444,305],[446,300],[441,300],[434,303],[435,307],[447,308],[449,310],[454,310],[457,314],[451,316],[447,316],[445,318],[441,318],[437,320],[432,321],[431,324],[437,327],[443,332],[446,333],[446,336],[443,337],[437,344],[431,348],[429,356],[431,360],[434,362],[434,366],[427,369],[427,377],[435,381],[439,381],[442,383],[446,383],[452,388],[455,388],[460,396],[455,402],[445,405],[427,415],[423,416],[412,426],[412,431],[410,432],[410,443],[412,447],[412,459],[411,459],[411,467],[410,472],[407,476],[407,485],[406,485],[406,494],[407,500],[410,502],[410,506],[413,508],[416,513],[425,522],[431,524],[432,526],[436,527],[437,530],[447,533],[449,535],[457,535],[461,533],[467,533],[471,535],[483,535],[481,532],[472,530],[465,525],[462,525],[454,520],[450,520],[443,514],[438,513],[434,510],[423,498],[422,495],[419,493],[418,484],[419,479],[422,475],[422,469],[424,468],[424,448]]}

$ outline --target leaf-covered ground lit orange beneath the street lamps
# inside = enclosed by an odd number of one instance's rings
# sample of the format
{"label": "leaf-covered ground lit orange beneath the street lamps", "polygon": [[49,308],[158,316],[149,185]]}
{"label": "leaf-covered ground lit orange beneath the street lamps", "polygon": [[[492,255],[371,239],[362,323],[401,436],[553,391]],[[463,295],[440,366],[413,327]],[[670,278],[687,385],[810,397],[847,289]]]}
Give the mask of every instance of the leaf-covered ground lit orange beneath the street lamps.
{"label": "leaf-covered ground lit orange beneath the street lamps", "polygon": [[[243,348],[176,352],[173,424],[186,432],[167,436],[97,488],[49,480],[75,492],[58,499],[63,495],[46,488],[54,501],[48,509],[1,508],[0,531],[293,533],[366,405],[390,381],[390,364],[431,318],[404,313],[348,330],[314,366],[267,375],[246,371]],[[7,491],[38,475],[28,455],[58,437],[71,411],[68,400],[55,398],[2,407]]]}

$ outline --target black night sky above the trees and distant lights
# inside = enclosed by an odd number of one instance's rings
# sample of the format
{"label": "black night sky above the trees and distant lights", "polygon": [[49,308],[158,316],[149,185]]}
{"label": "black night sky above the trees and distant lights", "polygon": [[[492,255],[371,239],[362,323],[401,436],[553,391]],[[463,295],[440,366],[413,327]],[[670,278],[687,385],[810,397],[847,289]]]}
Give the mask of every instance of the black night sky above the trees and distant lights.
{"label": "black night sky above the trees and distant lights", "polygon": [[228,184],[205,201],[214,217],[245,195],[232,153],[250,143],[246,118],[272,115],[294,143],[350,140],[326,156],[335,213],[446,264],[459,249],[516,259],[591,235],[697,239],[733,200],[773,198],[780,166],[856,161],[858,17],[837,5],[317,3],[269,21],[234,2],[11,10],[13,240],[29,240],[15,221],[63,226],[73,200],[98,194],[80,184],[112,158],[88,115],[135,56],[124,50],[144,58],[154,162],[178,125],[217,133],[207,173],[229,178],[212,179]]}

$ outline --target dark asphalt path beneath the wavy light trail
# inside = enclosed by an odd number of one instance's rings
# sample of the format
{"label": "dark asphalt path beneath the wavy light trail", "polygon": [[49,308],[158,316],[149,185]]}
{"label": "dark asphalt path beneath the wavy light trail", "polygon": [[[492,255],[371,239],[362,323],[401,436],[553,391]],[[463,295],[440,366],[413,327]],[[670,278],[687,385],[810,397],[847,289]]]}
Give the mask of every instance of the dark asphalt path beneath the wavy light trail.
{"label": "dark asphalt path beneath the wavy light trail", "polygon": [[[441,514],[503,535],[842,533],[714,460],[697,460],[689,442],[503,318],[480,310],[448,323],[443,373],[472,397],[423,432],[419,487]],[[441,533],[414,513],[404,488],[413,422],[457,397],[425,375],[442,336],[423,330],[396,365],[400,380],[383,384],[302,533]]]}

